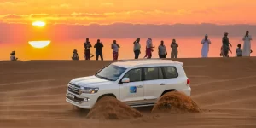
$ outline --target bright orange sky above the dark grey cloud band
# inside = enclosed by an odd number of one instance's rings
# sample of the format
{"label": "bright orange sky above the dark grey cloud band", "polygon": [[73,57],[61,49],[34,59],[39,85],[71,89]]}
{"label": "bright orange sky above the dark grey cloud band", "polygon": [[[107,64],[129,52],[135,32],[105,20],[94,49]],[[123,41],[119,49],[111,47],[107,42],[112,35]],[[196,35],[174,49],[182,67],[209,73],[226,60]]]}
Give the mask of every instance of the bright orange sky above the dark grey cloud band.
{"label": "bright orange sky above the dark grey cloud band", "polygon": [[0,22],[255,24],[255,0],[1,0]]}

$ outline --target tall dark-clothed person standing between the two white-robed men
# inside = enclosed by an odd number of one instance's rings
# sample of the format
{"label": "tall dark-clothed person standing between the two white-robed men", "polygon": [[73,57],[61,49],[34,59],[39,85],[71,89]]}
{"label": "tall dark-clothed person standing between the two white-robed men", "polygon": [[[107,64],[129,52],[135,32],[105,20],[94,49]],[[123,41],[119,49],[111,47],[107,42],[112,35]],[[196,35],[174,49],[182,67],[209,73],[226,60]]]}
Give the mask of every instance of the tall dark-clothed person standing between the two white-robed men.
{"label": "tall dark-clothed person standing between the two white-robed men", "polygon": [[232,47],[232,44],[230,44],[228,35],[229,35],[228,32],[224,32],[224,37],[222,38],[222,50],[223,50],[222,53],[224,57],[229,57],[230,46]]}

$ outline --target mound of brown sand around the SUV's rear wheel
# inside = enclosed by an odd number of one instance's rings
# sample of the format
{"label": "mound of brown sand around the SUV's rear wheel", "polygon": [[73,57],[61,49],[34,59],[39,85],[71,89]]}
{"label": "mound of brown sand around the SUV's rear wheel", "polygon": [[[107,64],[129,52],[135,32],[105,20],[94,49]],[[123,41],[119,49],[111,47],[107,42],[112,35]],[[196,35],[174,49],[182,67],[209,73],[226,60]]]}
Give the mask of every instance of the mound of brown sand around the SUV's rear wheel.
{"label": "mound of brown sand around the SUV's rear wheel", "polygon": [[185,94],[172,91],[161,96],[152,109],[153,113],[199,113],[201,109]]}

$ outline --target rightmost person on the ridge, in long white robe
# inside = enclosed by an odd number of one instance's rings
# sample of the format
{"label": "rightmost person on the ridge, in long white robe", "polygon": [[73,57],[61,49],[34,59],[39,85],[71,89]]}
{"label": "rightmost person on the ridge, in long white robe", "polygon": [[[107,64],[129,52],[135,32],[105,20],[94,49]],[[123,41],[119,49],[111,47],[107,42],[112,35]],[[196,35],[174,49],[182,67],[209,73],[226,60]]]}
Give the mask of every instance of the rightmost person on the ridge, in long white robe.
{"label": "rightmost person on the ridge, in long white robe", "polygon": [[244,41],[242,47],[242,56],[250,56],[252,37],[249,35],[249,31],[246,32],[246,35],[242,38],[242,40]]}

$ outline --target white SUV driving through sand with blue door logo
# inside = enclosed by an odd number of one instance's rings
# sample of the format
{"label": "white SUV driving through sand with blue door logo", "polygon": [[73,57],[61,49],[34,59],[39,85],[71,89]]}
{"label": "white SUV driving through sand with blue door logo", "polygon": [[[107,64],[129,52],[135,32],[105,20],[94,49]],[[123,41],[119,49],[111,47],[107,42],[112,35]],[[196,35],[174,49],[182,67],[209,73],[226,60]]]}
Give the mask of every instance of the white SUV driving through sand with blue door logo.
{"label": "white SUV driving through sand with blue door logo", "polygon": [[90,109],[103,96],[113,96],[131,107],[153,106],[166,92],[190,96],[190,80],[183,63],[160,59],[113,62],[93,76],[72,79],[66,101]]}

